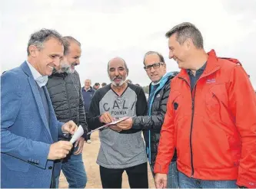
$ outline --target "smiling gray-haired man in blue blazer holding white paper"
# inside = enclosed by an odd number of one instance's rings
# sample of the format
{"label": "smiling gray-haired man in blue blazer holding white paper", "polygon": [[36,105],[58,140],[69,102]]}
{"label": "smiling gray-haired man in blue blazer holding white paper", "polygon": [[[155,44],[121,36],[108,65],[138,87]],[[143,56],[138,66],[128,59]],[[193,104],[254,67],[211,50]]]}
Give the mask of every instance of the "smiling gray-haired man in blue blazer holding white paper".
{"label": "smiling gray-haired man in blue blazer holding white paper", "polygon": [[58,122],[45,84],[63,57],[62,36],[42,29],[28,41],[28,60],[1,76],[1,187],[55,187],[72,144],[74,122]]}

